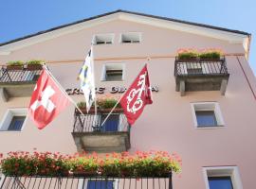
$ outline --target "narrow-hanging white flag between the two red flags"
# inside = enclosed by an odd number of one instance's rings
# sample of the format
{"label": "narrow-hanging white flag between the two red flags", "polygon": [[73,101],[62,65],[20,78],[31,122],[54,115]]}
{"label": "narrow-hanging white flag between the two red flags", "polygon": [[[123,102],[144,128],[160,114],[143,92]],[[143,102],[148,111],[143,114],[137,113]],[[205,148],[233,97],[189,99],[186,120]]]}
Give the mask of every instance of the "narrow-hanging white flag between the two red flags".
{"label": "narrow-hanging white flag between the two red flags", "polygon": [[79,79],[81,81],[82,93],[85,97],[86,111],[89,112],[96,97],[92,48],[90,49],[88,55],[86,56],[86,59],[84,60],[82,69],[79,74]]}

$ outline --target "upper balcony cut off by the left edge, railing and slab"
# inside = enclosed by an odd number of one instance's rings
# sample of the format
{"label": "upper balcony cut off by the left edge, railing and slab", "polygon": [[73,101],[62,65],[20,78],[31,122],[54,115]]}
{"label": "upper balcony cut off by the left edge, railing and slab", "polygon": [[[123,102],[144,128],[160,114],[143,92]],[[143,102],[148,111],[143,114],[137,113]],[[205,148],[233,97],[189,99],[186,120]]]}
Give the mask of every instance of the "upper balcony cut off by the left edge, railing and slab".
{"label": "upper balcony cut off by the left edge, railing and slab", "polygon": [[41,70],[9,70],[2,67],[0,70],[0,96],[3,101],[9,97],[30,96]]}

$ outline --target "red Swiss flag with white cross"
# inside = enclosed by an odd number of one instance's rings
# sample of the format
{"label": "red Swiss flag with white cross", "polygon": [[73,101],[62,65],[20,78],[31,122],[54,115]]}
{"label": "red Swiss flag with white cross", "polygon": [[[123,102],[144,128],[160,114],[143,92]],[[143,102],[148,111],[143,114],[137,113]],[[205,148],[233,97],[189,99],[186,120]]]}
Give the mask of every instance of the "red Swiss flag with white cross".
{"label": "red Swiss flag with white cross", "polygon": [[30,99],[28,108],[30,118],[38,129],[44,129],[68,103],[66,95],[44,68]]}

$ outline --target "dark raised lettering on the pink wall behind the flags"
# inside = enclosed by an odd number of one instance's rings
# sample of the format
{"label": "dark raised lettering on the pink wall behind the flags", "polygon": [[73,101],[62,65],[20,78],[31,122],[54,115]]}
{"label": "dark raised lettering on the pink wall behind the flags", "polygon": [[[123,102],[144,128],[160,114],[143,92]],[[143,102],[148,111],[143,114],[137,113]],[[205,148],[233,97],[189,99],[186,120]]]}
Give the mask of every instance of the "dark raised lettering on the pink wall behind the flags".
{"label": "dark raised lettering on the pink wall behind the flags", "polygon": [[[157,86],[152,86],[151,87],[152,92],[158,92],[159,89]],[[96,88],[96,94],[104,94],[104,93],[110,93],[110,94],[123,94],[126,91],[125,87],[111,87],[109,89],[105,87],[97,87]],[[75,95],[75,94],[83,94],[82,89],[79,88],[68,88],[65,90],[65,92],[68,95]]]}

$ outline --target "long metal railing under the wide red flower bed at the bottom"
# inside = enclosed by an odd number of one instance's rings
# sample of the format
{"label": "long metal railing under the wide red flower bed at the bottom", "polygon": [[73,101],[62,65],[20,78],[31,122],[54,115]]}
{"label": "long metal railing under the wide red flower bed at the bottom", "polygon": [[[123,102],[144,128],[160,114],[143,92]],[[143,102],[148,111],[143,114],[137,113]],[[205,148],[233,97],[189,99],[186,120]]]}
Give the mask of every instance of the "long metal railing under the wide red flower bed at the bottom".
{"label": "long metal railing under the wide red flower bed at the bottom", "polygon": [[166,178],[4,177],[0,189],[173,189]]}

